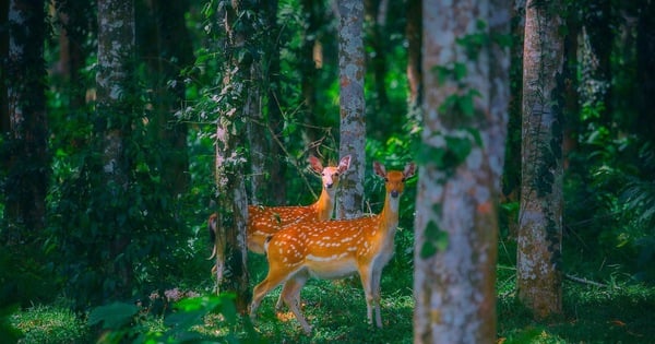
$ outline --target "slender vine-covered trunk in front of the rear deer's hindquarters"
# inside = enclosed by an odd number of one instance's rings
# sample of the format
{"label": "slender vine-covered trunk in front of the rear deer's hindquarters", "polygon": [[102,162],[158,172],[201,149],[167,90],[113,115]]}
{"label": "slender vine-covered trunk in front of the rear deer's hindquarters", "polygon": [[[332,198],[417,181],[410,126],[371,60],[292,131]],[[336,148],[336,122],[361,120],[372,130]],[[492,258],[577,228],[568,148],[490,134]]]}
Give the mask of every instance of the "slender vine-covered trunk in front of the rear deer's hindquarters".
{"label": "slender vine-covered trunk in front of the rear deer's hindquarters", "polygon": [[[249,118],[246,104],[252,99],[248,93],[253,86],[251,68],[259,57],[253,54],[252,37],[257,34],[257,11],[261,3],[235,1],[224,7],[224,25],[227,33],[224,80],[216,121],[216,191],[218,195],[216,224],[216,262],[218,290],[237,295],[237,308],[246,312],[250,298],[248,286],[246,224],[248,199],[243,178],[245,152],[239,132]],[[237,19],[239,23],[237,23]],[[225,266],[219,265],[224,261]],[[223,269],[226,278],[223,278]]]}

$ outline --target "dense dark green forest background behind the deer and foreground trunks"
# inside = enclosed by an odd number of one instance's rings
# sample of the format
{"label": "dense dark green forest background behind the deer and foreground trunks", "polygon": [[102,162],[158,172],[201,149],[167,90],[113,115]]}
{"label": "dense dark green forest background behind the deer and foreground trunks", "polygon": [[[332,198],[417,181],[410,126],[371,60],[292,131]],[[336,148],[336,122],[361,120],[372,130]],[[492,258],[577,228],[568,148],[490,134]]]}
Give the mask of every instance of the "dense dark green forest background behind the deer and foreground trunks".
{"label": "dense dark green forest background behind the deer and foreground trunks", "polygon": [[[84,313],[114,300],[152,300],[153,293],[166,290],[212,293],[206,220],[225,195],[216,181],[217,146],[237,152],[239,158],[227,161],[242,171],[238,179],[250,203],[317,199],[318,178],[307,157],[326,164],[343,155],[337,1],[242,2],[246,10],[235,17],[230,2],[218,0],[3,2],[0,307],[64,300]],[[134,7],[132,29],[128,22],[104,28],[121,21],[104,17],[117,13],[107,7],[124,3]],[[652,286],[655,3],[558,4],[565,61],[558,128],[561,271],[583,283]],[[512,9],[498,214],[499,265],[510,270],[516,264],[525,158],[525,2]],[[362,204],[365,213],[377,213],[382,183],[371,162],[402,168],[425,159],[418,156],[425,152],[421,78],[434,71],[420,68],[420,1],[366,0],[364,12]],[[104,60],[103,49],[121,58]],[[231,118],[230,109],[255,115]],[[221,139],[217,127],[226,121],[235,141]],[[416,197],[410,180],[390,266],[406,288]],[[253,261],[257,282],[265,265],[261,257]]]}

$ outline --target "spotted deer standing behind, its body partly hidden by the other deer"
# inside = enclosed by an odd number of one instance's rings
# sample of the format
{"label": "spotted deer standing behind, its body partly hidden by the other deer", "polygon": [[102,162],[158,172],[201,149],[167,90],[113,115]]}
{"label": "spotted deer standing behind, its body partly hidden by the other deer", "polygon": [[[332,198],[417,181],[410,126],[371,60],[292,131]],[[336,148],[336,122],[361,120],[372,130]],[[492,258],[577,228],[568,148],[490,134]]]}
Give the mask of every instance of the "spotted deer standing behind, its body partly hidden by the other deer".
{"label": "spotted deer standing behind, its body partly hidden by the other deer", "polygon": [[[337,166],[323,167],[321,161],[313,155],[310,155],[308,161],[311,169],[320,174],[322,179],[321,195],[319,199],[309,205],[248,205],[248,223],[246,228],[248,250],[258,254],[263,254],[266,237],[282,229],[284,226],[296,222],[325,221],[332,217],[340,177],[350,168],[350,155],[342,157]],[[212,214],[207,223],[211,241],[214,242],[212,254],[209,258],[212,259],[221,253],[217,252],[217,246],[215,244],[216,214]],[[218,281],[221,281],[221,271],[223,270],[219,269],[223,266],[222,260],[223,259],[218,259],[217,264],[212,269],[213,273],[217,273]]]}

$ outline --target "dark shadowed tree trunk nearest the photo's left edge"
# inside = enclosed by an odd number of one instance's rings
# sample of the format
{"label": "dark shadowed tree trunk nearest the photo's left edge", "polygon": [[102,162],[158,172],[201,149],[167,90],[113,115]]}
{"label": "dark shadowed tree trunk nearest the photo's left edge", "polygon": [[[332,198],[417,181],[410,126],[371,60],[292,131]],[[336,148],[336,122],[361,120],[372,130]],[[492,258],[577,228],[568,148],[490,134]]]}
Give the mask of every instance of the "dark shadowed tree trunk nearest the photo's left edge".
{"label": "dark shadowed tree trunk nearest the photo's left edge", "polygon": [[[46,69],[44,1],[9,1],[9,41],[3,59],[9,130],[2,155],[7,241],[31,241],[45,227],[49,178],[46,123]],[[3,107],[5,105],[2,105]],[[22,228],[27,230],[23,232]]]}

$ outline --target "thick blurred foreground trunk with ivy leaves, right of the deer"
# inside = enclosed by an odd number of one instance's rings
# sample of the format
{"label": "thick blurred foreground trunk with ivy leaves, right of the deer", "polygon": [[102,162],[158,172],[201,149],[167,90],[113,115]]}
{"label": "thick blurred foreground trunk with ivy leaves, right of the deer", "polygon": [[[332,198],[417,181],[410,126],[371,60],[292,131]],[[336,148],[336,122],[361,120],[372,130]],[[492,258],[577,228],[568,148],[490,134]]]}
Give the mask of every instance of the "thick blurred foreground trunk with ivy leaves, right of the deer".
{"label": "thick blurred foreground trunk with ivy leaves, right of the deer", "polygon": [[415,343],[495,343],[509,8],[504,1],[424,1],[422,10]]}

